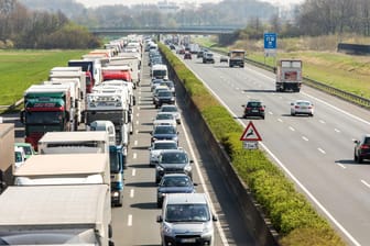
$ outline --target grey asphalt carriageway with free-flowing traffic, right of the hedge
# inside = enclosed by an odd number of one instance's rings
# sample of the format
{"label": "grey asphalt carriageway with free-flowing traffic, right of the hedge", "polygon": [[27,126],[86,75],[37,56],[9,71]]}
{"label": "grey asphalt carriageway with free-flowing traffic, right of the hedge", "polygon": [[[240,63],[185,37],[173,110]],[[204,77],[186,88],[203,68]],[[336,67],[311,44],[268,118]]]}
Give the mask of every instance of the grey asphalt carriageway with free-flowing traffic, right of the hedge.
{"label": "grey asphalt carriageway with free-flowing traffic, right of the hedge", "polygon": [[[229,68],[215,59],[202,64],[193,56],[184,63],[243,125],[249,120],[241,119],[241,104],[262,100],[265,120],[253,120],[262,149],[349,245],[368,245],[370,168],[353,161],[353,139],[369,132],[369,112],[307,87],[300,93],[275,92],[273,74],[251,66]],[[296,99],[311,100],[315,115],[291,116],[290,103]]]}

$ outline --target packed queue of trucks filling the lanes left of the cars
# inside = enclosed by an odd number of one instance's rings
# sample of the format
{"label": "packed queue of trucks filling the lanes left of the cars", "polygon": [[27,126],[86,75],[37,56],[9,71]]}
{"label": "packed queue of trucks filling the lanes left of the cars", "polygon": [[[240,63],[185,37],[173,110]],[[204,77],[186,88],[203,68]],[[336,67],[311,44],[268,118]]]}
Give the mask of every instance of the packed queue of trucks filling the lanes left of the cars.
{"label": "packed queue of trucks filling the lanes left of the cars", "polygon": [[141,43],[110,42],[24,91],[24,141],[39,155],[17,168],[14,125],[0,124],[0,245],[115,245]]}

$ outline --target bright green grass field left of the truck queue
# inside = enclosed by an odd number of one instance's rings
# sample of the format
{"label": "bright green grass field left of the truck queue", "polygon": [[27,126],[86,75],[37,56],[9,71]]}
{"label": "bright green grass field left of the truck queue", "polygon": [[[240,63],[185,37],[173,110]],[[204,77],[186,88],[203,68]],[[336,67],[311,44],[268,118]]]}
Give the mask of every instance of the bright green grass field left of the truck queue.
{"label": "bright green grass field left of the truck queue", "polygon": [[23,97],[31,85],[47,80],[55,66],[67,66],[87,51],[0,51],[0,105],[10,105]]}

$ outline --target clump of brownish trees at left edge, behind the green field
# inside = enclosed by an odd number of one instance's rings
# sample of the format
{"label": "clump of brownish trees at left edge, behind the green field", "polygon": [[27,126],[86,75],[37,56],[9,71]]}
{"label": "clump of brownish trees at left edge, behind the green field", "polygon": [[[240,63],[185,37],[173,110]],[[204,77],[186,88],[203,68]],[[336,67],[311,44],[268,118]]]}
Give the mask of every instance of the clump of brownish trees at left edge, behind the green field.
{"label": "clump of brownish trees at left edge, behind the green field", "polygon": [[8,48],[94,48],[100,41],[61,11],[31,11],[15,0],[0,1],[0,45]]}

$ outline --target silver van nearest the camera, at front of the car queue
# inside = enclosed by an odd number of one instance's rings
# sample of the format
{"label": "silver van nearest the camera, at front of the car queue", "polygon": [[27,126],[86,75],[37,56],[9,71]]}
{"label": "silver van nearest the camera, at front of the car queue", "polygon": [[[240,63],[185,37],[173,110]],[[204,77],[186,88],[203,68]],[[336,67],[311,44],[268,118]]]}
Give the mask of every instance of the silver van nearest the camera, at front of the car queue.
{"label": "silver van nearest the camera, at front of the car queue", "polygon": [[215,221],[205,193],[168,193],[156,217],[161,245],[214,245]]}

